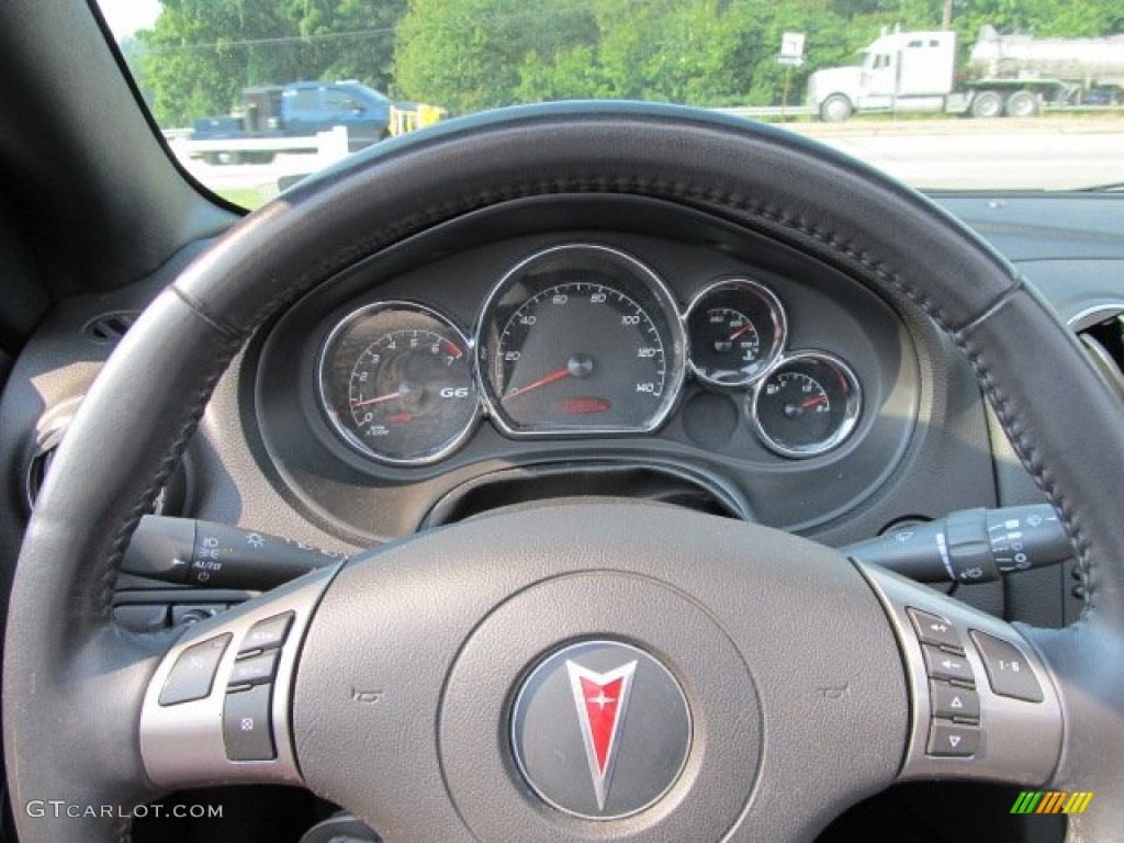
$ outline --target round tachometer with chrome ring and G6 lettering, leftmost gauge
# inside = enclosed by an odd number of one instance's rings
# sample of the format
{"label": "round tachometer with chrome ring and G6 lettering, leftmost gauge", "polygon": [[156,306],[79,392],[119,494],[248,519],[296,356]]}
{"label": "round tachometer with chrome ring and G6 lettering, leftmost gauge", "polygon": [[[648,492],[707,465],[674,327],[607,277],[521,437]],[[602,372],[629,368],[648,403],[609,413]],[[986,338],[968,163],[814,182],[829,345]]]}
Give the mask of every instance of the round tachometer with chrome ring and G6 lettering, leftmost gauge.
{"label": "round tachometer with chrome ring and G6 lettering, leftmost gauge", "polygon": [[469,342],[422,305],[380,302],[347,316],[324,345],[319,378],[341,438],[391,464],[439,460],[479,416]]}

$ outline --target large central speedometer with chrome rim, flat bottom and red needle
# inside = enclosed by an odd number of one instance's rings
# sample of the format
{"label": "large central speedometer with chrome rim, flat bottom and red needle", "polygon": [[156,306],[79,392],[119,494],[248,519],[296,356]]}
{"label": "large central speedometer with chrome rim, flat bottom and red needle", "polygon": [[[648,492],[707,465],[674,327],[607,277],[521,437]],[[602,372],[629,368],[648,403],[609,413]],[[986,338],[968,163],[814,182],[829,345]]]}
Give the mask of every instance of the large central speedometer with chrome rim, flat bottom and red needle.
{"label": "large central speedometer with chrome rim, flat bottom and red needle", "polygon": [[520,263],[489,298],[480,334],[482,391],[514,435],[646,433],[682,384],[674,300],[652,270],[605,246]]}

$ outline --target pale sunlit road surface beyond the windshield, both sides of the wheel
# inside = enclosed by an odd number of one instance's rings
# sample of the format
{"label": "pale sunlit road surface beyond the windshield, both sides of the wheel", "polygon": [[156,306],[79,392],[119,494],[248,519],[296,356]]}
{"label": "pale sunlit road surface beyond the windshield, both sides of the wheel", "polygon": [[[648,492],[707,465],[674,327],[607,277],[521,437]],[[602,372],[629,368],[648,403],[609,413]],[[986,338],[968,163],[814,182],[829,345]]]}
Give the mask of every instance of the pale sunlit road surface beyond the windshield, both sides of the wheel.
{"label": "pale sunlit road surface beyond the windshield, both sides of the wheel", "polygon": [[[800,121],[783,128],[921,188],[1066,190],[1124,182],[1124,117]],[[188,167],[220,191],[259,191],[264,200],[275,194],[279,179],[328,163],[321,157],[279,155],[268,165],[225,166],[189,161]]]}

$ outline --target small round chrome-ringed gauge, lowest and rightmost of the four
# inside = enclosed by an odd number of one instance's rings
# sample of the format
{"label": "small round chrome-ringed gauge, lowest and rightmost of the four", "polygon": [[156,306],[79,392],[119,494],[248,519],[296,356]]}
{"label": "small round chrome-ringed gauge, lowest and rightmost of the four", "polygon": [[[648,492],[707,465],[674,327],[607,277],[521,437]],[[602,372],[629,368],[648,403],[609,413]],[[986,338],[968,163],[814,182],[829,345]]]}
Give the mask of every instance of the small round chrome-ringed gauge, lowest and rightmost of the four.
{"label": "small round chrome-ringed gauge, lowest and rightmost of the four", "polygon": [[862,390],[839,357],[800,352],[770,371],[753,396],[752,424],[782,456],[807,457],[837,447],[859,420]]}

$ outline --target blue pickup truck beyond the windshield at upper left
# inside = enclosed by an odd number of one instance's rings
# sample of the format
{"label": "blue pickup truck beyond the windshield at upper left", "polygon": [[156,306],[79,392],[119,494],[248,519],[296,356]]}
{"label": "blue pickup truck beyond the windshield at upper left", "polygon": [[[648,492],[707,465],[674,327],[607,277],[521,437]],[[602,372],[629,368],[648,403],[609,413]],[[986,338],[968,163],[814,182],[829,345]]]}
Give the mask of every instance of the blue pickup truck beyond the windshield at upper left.
{"label": "blue pickup truck beyond the windshield at upper left", "polygon": [[[347,128],[355,152],[388,135],[390,100],[364,84],[291,82],[243,90],[241,114],[205,117],[193,123],[192,140],[314,137],[336,126]],[[198,153],[210,164],[269,163],[270,151],[214,149]]]}

